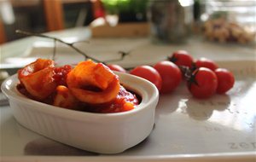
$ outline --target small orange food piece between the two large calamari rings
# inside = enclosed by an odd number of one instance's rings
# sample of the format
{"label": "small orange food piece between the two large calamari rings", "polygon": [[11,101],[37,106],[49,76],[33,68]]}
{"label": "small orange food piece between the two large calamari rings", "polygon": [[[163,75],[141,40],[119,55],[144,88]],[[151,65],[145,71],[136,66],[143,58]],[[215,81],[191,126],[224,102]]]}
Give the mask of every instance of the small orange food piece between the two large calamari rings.
{"label": "small orange food piece between the two large calamari rings", "polygon": [[56,88],[56,95],[53,105],[56,107],[64,107],[68,109],[73,109],[76,107],[78,101],[72,95],[70,90],[67,89],[64,85],[59,85]]}

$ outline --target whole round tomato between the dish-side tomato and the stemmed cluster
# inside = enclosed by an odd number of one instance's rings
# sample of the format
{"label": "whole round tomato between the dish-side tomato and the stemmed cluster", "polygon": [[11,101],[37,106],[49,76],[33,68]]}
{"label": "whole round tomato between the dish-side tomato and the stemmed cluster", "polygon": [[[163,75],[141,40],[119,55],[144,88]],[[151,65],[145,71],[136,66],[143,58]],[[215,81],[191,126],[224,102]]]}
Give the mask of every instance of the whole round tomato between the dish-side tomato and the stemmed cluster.
{"label": "whole round tomato between the dish-side tomato and the stemmed cluster", "polygon": [[182,73],[171,61],[160,61],[154,65],[155,70],[162,78],[162,88],[160,93],[169,93],[177,88],[182,80]]}

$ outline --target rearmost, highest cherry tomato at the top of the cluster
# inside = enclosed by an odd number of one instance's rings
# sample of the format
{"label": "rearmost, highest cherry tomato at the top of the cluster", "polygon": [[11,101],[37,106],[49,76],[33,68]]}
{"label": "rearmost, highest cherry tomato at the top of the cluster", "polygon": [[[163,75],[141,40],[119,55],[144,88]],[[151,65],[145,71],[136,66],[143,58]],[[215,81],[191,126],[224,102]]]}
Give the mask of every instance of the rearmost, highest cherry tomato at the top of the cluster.
{"label": "rearmost, highest cherry tomato at the top of the cluster", "polygon": [[185,50],[173,52],[168,60],[174,62],[177,66],[192,67],[193,64],[193,57]]}

